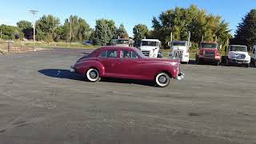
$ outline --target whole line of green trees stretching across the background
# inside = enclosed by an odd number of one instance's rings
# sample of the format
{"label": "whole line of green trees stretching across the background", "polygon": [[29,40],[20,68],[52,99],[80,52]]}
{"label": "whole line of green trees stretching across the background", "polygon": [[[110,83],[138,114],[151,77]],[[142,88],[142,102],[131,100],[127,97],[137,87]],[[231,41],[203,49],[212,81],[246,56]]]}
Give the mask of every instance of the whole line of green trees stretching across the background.
{"label": "whole line of green trees stretching across the background", "polygon": [[[125,26],[116,26],[113,20],[98,19],[94,28],[90,28],[85,19],[76,15],[66,18],[64,24],[53,15],[43,15],[35,22],[36,40],[45,42],[82,42],[90,40],[94,45],[105,46],[111,39],[128,38]],[[152,29],[146,25],[138,24],[133,28],[134,41],[142,38],[156,38],[162,41],[163,46],[170,42],[170,33],[174,40],[186,40],[191,33],[191,42],[196,46],[202,41],[214,41],[218,37],[218,43],[227,46],[232,38],[228,22],[221,16],[206,14],[197,6],[188,8],[175,7],[166,10],[152,18]],[[17,26],[0,26],[3,39],[33,38],[33,25],[22,20]],[[232,42],[252,46],[256,42],[256,10],[250,10],[242,22],[238,24]]]}

